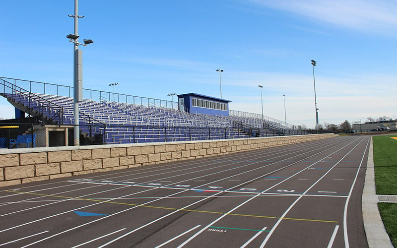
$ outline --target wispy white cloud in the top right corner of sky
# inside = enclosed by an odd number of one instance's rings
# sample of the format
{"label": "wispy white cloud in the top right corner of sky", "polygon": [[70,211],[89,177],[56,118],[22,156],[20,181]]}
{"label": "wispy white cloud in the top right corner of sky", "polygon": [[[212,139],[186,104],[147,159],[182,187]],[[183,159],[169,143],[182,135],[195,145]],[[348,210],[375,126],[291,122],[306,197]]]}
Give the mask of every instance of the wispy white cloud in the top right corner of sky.
{"label": "wispy white cloud in the top right corner of sky", "polygon": [[251,1],[362,32],[388,33],[397,29],[397,2],[395,0]]}

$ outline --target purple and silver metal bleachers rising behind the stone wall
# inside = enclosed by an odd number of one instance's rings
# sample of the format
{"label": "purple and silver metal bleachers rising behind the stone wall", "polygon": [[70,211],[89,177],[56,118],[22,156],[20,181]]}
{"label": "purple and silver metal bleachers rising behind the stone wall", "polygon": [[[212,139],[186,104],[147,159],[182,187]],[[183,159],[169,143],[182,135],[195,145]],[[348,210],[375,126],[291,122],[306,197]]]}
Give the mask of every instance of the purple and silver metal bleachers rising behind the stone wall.
{"label": "purple and silver metal bleachers rising behind the stone wall", "polygon": [[[30,116],[40,118],[46,124],[73,124],[72,97],[32,93],[5,80],[3,80],[3,85],[4,92],[0,94],[6,97],[15,108]],[[59,85],[57,85],[57,92],[58,87]],[[80,130],[86,137],[92,140],[95,135],[101,135],[104,143],[229,139],[295,134],[293,128],[285,128],[286,126],[283,127],[274,119],[265,120],[257,116],[245,117],[236,114],[231,116],[191,114],[163,106],[106,101],[103,97],[100,99],[102,100],[83,99],[79,102],[79,124]]]}

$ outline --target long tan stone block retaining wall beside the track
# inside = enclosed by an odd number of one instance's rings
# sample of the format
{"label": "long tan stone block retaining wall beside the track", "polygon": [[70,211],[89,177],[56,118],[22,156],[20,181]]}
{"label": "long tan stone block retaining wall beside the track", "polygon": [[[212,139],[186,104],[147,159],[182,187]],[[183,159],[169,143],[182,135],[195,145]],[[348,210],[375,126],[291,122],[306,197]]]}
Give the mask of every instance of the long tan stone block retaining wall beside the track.
{"label": "long tan stone block retaining wall beside the track", "polygon": [[334,137],[334,134],[0,149],[0,186],[217,156],[331,137]]}

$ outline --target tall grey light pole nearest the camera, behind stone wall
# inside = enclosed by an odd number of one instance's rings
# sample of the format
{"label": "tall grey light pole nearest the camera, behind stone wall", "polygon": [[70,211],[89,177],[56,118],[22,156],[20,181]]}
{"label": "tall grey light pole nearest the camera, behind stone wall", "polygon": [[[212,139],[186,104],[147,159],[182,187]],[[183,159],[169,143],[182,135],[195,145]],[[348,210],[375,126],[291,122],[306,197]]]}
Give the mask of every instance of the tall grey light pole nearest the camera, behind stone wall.
{"label": "tall grey light pole nearest the camera, behind stone wall", "polygon": [[67,15],[74,19],[74,33],[66,35],[67,39],[73,43],[73,133],[74,145],[80,145],[80,127],[79,127],[79,111],[78,102],[83,100],[83,71],[82,71],[82,51],[78,49],[79,45],[87,46],[93,43],[92,40],[83,40],[84,44],[78,42],[78,0],[74,0],[74,15]]}

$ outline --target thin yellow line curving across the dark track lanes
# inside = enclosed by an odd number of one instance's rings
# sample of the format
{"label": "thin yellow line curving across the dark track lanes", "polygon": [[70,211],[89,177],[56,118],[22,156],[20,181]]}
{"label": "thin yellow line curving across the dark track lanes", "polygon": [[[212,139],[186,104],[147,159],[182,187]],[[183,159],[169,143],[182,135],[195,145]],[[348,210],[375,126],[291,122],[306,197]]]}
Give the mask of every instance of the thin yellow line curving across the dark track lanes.
{"label": "thin yellow line curving across the dark track lanes", "polygon": [[116,202],[116,201],[105,201],[105,200],[96,200],[96,199],[88,199],[88,198],[80,198],[80,197],[70,197],[70,196],[53,195],[53,194],[40,194],[40,193],[21,192],[21,191],[13,191],[13,190],[4,190],[4,191],[6,191],[6,192],[11,192],[11,193],[22,193],[22,194],[32,194],[32,195],[40,195],[40,196],[51,196],[51,197],[57,197],[57,198],[76,199],[76,200],[86,200],[86,201],[95,201],[95,202],[112,203],[112,204],[120,204],[120,205],[128,205],[128,206],[138,206],[138,207],[148,207],[148,208],[166,209],[166,210],[174,210],[174,211],[178,210],[178,211],[188,211],[188,212],[195,212],[195,213],[226,214],[226,215],[242,216],[242,217],[255,217],[255,218],[267,218],[267,219],[284,219],[284,220],[297,220],[297,221],[315,221],[315,222],[326,222],[326,223],[338,223],[337,221],[331,221],[331,220],[311,220],[311,219],[297,219],[297,218],[281,218],[281,217],[264,216],[264,215],[223,213],[223,212],[204,211],[204,210],[194,210],[194,209],[184,209],[184,208],[172,208],[172,207],[160,207],[160,206],[140,205],[140,204],[133,204],[133,203]]}

